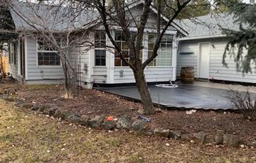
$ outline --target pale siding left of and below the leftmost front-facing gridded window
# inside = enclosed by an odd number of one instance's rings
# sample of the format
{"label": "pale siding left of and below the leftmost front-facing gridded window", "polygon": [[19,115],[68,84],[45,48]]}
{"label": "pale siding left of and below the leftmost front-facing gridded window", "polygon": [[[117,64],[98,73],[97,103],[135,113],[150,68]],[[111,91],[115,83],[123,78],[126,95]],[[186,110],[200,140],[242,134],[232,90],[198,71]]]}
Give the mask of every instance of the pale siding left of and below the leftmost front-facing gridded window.
{"label": "pale siding left of and below the leftmost front-facing gridded window", "polygon": [[27,80],[64,78],[62,67],[37,65],[36,39],[27,38]]}

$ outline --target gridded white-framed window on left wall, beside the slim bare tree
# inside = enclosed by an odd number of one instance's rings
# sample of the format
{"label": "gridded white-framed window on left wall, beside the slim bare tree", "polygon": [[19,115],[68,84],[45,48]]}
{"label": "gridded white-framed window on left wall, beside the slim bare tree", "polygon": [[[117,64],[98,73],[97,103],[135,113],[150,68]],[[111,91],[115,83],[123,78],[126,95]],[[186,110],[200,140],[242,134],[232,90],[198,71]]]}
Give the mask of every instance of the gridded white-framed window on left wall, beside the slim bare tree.
{"label": "gridded white-framed window on left wall, beside the slim bare tree", "polygon": [[60,66],[58,51],[38,39],[38,66]]}

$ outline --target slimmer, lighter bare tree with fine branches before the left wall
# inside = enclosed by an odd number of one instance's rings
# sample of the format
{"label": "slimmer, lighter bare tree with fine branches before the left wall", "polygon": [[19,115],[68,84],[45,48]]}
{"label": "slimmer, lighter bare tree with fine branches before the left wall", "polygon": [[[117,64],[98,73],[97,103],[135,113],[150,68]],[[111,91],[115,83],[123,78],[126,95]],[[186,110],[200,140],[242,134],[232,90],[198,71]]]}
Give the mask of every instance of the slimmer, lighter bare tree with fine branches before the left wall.
{"label": "slimmer, lighter bare tree with fine branches before the left wall", "polygon": [[[76,83],[75,65],[71,63],[71,50],[86,44],[86,29],[79,28],[76,23],[84,9],[74,8],[71,1],[53,0],[47,4],[39,1],[32,3],[2,0],[9,5],[13,13],[19,17],[23,29],[18,29],[20,35],[35,38],[38,48],[50,49],[60,56],[64,71],[64,97],[73,98]],[[34,1],[35,2],[35,1]],[[79,36],[79,37],[78,37]],[[83,39],[78,39],[83,38]]]}

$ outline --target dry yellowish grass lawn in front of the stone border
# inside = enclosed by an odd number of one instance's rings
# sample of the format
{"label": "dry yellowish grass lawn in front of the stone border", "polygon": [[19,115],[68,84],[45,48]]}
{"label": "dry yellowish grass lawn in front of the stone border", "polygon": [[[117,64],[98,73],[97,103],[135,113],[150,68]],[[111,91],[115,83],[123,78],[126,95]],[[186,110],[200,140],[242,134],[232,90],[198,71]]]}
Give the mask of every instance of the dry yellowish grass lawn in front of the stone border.
{"label": "dry yellowish grass lawn in front of the stone border", "polygon": [[0,162],[251,163],[256,162],[255,153],[123,131],[90,130],[0,100]]}

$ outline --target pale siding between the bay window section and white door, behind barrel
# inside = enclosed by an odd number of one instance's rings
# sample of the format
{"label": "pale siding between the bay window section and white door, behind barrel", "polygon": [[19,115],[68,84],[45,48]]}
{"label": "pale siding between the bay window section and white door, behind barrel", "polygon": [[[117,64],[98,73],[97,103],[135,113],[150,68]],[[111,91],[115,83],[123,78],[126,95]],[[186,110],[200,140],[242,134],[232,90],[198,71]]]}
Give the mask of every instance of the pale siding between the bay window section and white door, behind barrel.
{"label": "pale siding between the bay window section and white door, behind barrel", "polygon": [[[192,54],[180,54],[180,53],[192,53]],[[197,77],[197,60],[198,60],[198,44],[185,43],[180,44],[177,51],[177,76],[181,74],[181,67],[194,67],[195,77]]]}

